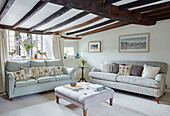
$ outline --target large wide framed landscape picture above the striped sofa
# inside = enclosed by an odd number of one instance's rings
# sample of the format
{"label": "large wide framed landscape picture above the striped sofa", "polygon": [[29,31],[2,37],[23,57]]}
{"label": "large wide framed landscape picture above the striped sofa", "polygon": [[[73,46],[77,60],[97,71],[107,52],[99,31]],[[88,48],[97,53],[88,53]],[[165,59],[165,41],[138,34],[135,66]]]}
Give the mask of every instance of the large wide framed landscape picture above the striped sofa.
{"label": "large wide framed landscape picture above the striped sofa", "polygon": [[119,52],[147,53],[149,52],[149,33],[119,36]]}

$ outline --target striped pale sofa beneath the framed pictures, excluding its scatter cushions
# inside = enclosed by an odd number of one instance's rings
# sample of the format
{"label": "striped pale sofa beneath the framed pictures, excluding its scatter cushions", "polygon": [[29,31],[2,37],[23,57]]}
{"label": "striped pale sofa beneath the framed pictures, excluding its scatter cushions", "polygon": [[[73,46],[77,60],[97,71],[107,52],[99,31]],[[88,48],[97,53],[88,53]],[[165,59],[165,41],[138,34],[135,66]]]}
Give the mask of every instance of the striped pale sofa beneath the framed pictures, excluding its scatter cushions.
{"label": "striped pale sofa beneath the framed pictures, excluding its scatter cushions", "polygon": [[[98,83],[115,89],[153,96],[156,97],[156,101],[159,103],[159,97],[165,92],[165,79],[168,70],[166,63],[157,61],[111,61],[105,63],[110,64],[110,73],[101,72],[100,69],[92,69],[89,73],[91,83]],[[113,63],[140,66],[147,64],[161,67],[161,71],[156,75],[155,79],[118,75],[111,73]]]}

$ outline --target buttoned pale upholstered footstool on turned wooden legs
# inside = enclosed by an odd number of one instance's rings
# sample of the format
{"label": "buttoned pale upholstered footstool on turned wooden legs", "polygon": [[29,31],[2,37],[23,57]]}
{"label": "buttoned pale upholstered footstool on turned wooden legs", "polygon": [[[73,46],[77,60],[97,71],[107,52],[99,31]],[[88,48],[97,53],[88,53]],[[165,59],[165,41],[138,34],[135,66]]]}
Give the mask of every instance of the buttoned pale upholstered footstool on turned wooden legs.
{"label": "buttoned pale upholstered footstool on turned wooden legs", "polygon": [[59,98],[63,98],[72,104],[75,104],[83,109],[83,115],[86,116],[87,109],[110,99],[112,106],[114,90],[106,87],[106,89],[97,91],[94,89],[94,84],[80,82],[77,85],[82,86],[81,89],[72,90],[64,86],[55,88],[56,102],[59,103]]}

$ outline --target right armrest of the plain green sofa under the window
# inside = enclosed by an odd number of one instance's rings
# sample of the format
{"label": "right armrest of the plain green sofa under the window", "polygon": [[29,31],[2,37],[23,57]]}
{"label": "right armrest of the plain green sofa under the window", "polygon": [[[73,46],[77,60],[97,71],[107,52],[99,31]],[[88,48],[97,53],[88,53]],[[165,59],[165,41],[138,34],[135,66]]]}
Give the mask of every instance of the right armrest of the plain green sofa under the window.
{"label": "right armrest of the plain green sofa under the window", "polygon": [[74,73],[76,72],[76,69],[75,68],[66,68],[66,67],[63,67],[63,72],[64,74],[68,74],[70,75],[71,79],[73,81],[75,81],[75,76],[74,76]]}

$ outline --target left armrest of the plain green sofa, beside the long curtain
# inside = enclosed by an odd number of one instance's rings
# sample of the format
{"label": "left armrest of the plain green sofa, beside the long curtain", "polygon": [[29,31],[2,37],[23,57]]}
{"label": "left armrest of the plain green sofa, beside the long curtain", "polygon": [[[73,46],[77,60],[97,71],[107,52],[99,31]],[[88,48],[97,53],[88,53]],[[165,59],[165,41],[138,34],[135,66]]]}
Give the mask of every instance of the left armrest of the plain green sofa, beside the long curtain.
{"label": "left armrest of the plain green sofa, beside the long curtain", "polygon": [[6,72],[5,78],[5,90],[8,93],[9,98],[12,97],[14,92],[15,76],[12,72]]}

